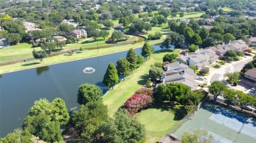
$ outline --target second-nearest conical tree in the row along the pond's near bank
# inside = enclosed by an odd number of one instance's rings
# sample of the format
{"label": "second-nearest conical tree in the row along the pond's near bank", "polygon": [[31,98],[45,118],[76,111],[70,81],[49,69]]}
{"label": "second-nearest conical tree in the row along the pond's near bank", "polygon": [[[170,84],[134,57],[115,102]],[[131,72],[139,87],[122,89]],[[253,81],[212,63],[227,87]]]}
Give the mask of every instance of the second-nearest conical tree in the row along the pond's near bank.
{"label": "second-nearest conical tree in the row along the pond's near bank", "polygon": [[118,76],[123,76],[123,80],[125,80],[125,76],[130,72],[129,61],[125,58],[118,59],[116,69]]}

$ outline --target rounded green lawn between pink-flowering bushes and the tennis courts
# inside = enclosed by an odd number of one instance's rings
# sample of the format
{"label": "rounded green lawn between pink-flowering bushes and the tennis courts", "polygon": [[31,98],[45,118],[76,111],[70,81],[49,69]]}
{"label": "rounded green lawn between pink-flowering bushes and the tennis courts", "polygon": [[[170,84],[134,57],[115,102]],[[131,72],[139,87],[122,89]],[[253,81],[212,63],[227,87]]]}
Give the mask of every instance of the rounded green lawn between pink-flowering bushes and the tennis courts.
{"label": "rounded green lawn between pink-flowering bushes and the tennis courts", "polygon": [[185,116],[183,106],[156,103],[152,107],[136,114],[140,123],[145,125],[146,138],[140,143],[157,142],[161,136],[166,135]]}

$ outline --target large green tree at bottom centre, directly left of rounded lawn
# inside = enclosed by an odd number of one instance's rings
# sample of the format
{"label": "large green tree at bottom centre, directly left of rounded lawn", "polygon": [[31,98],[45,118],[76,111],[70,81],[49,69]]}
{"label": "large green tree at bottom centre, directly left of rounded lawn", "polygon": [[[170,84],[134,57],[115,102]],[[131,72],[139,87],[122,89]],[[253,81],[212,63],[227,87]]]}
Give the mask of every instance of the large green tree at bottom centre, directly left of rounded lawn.
{"label": "large green tree at bottom centre, directly left of rounded lawn", "polygon": [[136,143],[146,136],[144,125],[129,115],[127,110],[118,110],[114,119],[109,119],[96,131],[95,142]]}

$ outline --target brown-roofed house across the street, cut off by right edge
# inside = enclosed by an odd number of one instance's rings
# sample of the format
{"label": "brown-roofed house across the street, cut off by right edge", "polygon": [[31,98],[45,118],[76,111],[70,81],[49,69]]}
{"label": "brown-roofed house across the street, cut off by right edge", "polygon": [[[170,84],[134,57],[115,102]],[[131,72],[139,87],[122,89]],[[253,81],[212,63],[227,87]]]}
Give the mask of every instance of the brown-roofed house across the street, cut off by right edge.
{"label": "brown-roofed house across the street, cut off by right edge", "polygon": [[256,87],[256,68],[249,69],[247,72],[245,72],[242,82],[248,84],[249,86]]}

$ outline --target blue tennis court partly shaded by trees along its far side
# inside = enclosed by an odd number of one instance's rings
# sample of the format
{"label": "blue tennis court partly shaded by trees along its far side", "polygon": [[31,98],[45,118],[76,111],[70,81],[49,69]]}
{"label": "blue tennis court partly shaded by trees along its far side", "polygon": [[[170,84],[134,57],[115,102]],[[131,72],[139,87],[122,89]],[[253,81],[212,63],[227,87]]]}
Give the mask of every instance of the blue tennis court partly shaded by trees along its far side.
{"label": "blue tennis court partly shaded by trees along its far side", "polygon": [[256,138],[256,121],[253,121],[250,118],[245,118],[236,113],[231,113],[221,108],[217,109],[209,119],[234,129],[235,131],[238,131],[238,133],[244,133],[245,135]]}

